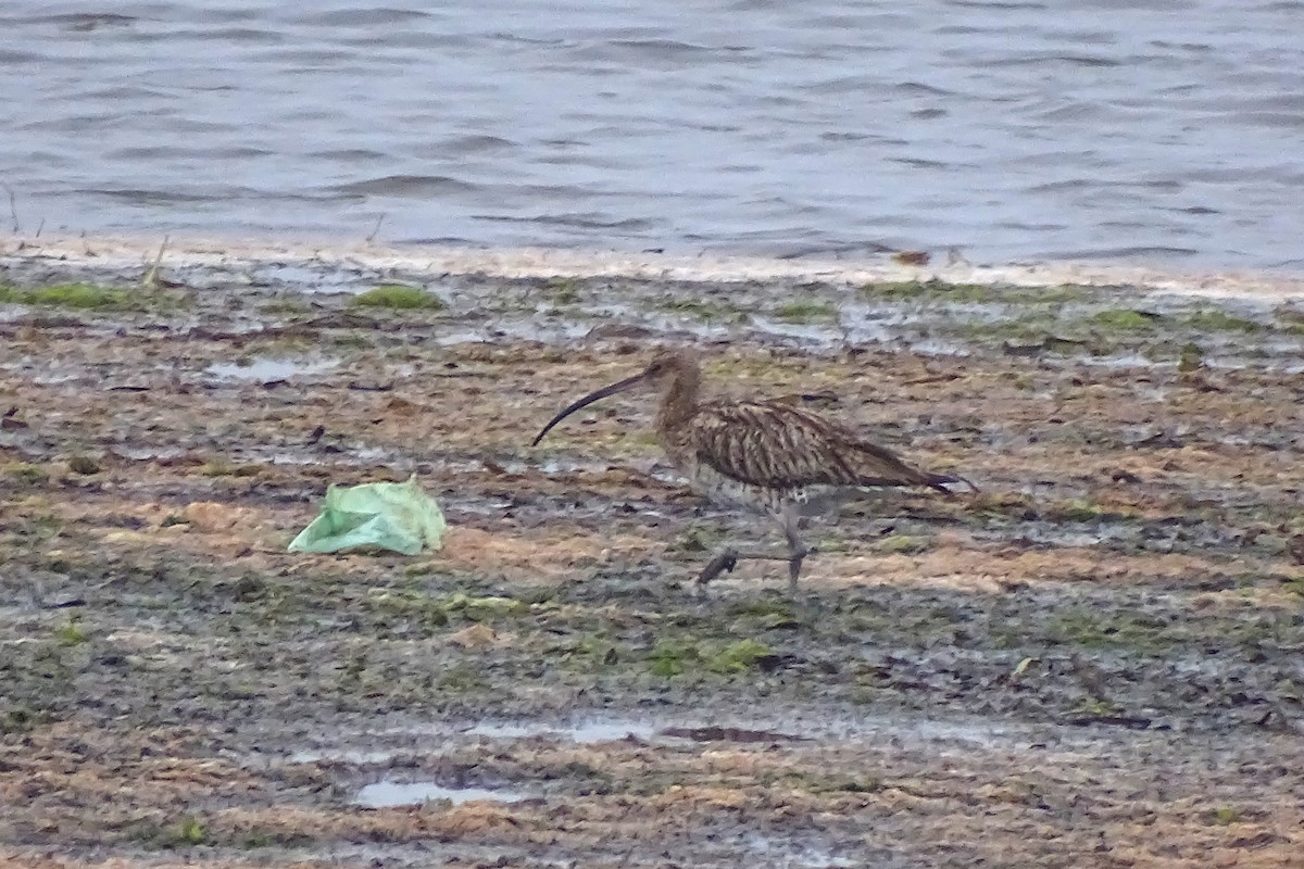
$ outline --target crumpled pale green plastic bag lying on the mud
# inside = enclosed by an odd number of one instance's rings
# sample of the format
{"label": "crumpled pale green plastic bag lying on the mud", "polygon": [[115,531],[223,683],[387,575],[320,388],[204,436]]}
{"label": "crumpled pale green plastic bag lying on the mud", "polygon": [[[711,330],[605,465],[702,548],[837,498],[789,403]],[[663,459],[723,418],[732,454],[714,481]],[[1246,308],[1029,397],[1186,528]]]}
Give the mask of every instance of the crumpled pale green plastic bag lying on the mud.
{"label": "crumpled pale green plastic bag lying on the mud", "polygon": [[416,555],[443,546],[443,511],[421,491],[416,474],[404,483],[331,483],[321,515],[289,542],[291,552],[381,548]]}

